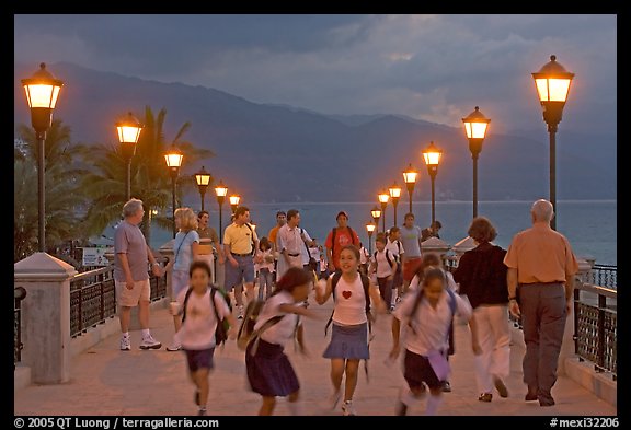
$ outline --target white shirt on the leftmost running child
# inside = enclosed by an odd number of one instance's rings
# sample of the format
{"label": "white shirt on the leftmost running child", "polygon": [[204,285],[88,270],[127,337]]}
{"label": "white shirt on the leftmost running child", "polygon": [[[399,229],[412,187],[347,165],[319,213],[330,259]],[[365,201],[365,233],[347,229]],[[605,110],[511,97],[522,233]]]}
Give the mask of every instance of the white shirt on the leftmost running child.
{"label": "white shirt on the leftmost running child", "polygon": [[[184,304],[184,297],[187,288],[180,291],[177,302]],[[215,292],[215,306],[219,318],[223,319],[230,314],[230,309],[220,292]],[[177,332],[177,339],[184,349],[208,349],[215,347],[215,328],[217,328],[217,318],[215,310],[210,303],[210,289],[199,297],[195,291],[188,295],[186,302],[186,319]]]}

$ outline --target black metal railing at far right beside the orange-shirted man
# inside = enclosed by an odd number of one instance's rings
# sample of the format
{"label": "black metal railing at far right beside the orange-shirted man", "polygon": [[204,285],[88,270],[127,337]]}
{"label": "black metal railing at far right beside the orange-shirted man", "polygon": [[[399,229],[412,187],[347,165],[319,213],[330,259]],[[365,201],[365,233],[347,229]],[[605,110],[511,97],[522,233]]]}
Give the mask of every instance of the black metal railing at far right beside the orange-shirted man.
{"label": "black metal railing at far right beside the orange-shirted man", "polygon": [[[577,281],[574,289],[574,351],[596,372],[618,375],[618,292]],[[609,301],[608,301],[609,300]]]}

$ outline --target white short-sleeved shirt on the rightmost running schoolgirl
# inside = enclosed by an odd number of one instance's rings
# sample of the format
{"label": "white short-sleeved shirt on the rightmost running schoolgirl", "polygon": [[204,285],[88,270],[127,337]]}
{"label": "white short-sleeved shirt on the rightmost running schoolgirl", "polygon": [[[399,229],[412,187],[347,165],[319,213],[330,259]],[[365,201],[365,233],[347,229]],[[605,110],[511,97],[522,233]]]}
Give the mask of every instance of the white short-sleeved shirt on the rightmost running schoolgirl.
{"label": "white short-sleeved shirt on the rightmost running schoolgirl", "polygon": [[[427,356],[429,351],[446,351],[449,348],[447,334],[451,324],[451,309],[449,307],[449,300],[451,299],[449,293],[443,290],[436,309],[432,307],[426,298],[423,298],[415,315],[413,315],[412,327],[414,327],[414,330],[412,330],[408,327],[408,323],[416,301],[417,291],[414,290],[404,294],[403,300],[392,312],[392,315],[406,328],[403,339],[405,349],[420,356]],[[471,304],[467,299],[458,294],[454,294],[454,297],[456,298],[456,314],[469,319],[473,312]]]}

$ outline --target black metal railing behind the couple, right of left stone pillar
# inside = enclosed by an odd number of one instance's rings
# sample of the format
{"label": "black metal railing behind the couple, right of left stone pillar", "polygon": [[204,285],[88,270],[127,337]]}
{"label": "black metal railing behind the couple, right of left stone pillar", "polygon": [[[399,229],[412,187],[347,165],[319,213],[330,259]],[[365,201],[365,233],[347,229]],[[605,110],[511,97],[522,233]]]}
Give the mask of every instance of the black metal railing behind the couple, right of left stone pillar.
{"label": "black metal railing behind the couple, right of left stone pillar", "polygon": [[[158,278],[149,272],[149,282],[151,301],[167,297],[167,276]],[[115,315],[114,266],[76,275],[70,281],[70,336],[80,336]]]}

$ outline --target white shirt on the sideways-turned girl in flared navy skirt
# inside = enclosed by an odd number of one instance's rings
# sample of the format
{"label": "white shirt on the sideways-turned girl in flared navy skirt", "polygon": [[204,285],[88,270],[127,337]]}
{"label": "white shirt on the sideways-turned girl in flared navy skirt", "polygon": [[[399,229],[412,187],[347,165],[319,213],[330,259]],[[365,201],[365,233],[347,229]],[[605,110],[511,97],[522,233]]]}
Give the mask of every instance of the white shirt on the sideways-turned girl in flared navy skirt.
{"label": "white shirt on the sideways-turned girl in flared navy skirt", "polygon": [[278,323],[266,328],[261,335],[261,339],[268,341],[269,344],[285,346],[287,341],[294,338],[294,330],[296,329],[298,315],[280,312],[278,306],[284,303],[296,304],[294,297],[288,291],[280,291],[277,294],[271,295],[269,299],[265,301],[261,314],[256,319],[256,324],[254,324],[254,329],[257,330],[269,318],[273,318],[276,315],[285,315]]}

